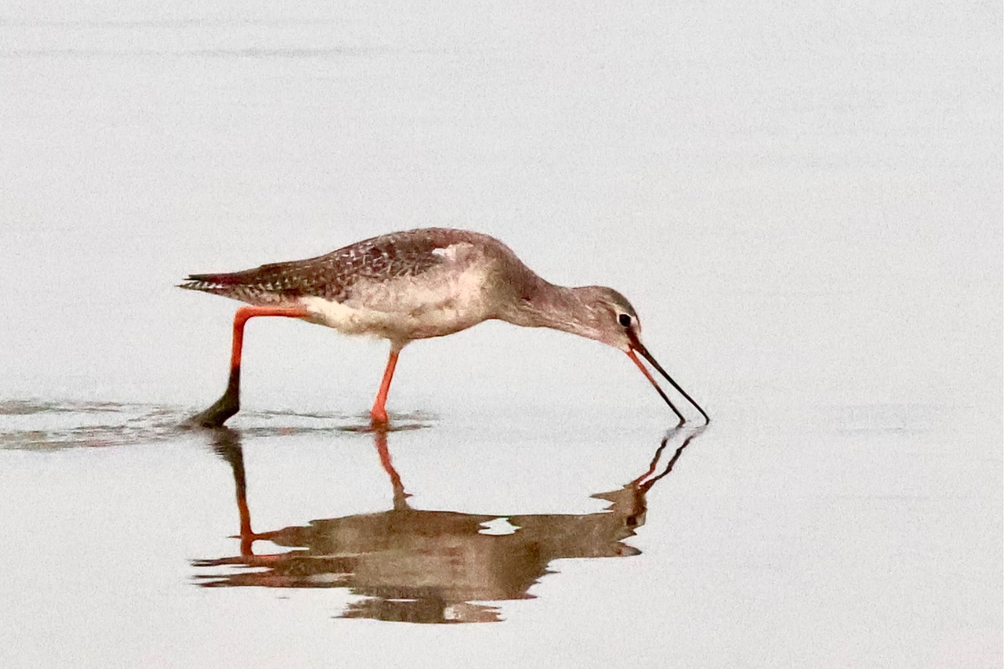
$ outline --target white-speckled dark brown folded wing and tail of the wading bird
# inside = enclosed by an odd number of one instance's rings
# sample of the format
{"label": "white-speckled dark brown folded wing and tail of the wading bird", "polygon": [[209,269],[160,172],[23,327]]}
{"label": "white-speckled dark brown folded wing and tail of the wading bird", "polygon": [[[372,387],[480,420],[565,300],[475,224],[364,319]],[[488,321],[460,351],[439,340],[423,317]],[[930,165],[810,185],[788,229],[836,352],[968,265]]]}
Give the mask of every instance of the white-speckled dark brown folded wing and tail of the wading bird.
{"label": "white-speckled dark brown folded wing and tail of the wading bird", "polygon": [[229,274],[193,274],[181,288],[252,304],[281,304],[301,296],[342,302],[360,280],[385,281],[426,272],[443,262],[436,249],[464,241],[463,237],[463,231],[435,228],[395,233],[307,260]]}

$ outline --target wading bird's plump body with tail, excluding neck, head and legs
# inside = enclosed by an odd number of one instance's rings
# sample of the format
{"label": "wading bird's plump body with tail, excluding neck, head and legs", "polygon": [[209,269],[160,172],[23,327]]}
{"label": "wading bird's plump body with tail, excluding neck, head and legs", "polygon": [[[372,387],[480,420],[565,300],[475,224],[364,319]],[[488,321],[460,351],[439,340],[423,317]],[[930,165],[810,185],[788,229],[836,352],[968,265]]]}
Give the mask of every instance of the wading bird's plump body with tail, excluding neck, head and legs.
{"label": "wading bird's plump body with tail, excluding neck, head and legs", "polygon": [[[416,339],[494,318],[500,306],[539,281],[493,237],[427,228],[306,260],[194,274],[182,288],[255,305],[306,306],[324,312],[318,322],[345,332]],[[395,332],[388,330],[392,325]]]}

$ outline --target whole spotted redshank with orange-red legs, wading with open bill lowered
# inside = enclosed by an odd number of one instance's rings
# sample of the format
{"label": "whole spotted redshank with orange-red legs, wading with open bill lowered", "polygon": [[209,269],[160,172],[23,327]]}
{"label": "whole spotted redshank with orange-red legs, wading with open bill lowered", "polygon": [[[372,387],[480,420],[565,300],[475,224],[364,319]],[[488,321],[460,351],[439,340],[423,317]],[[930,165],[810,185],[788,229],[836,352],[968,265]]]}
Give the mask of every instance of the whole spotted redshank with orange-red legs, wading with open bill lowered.
{"label": "whole spotted redshank with orange-red legs, wading with open bill lowered", "polygon": [[324,256],[262,265],[232,274],[193,274],[181,288],[247,302],[234,317],[227,389],[194,424],[222,425],[240,409],[244,324],[255,316],[285,316],[326,325],[345,334],[390,340],[391,357],[369,411],[374,426],[388,423],[387,394],[398,354],[410,341],[442,337],[500,319],[524,327],[563,330],[618,348],[680,419],[649,361],[709,421],[697,402],[642,345],[638,314],[610,288],[555,286],[538,277],[509,247],[467,230],[429,228],[363,240]]}

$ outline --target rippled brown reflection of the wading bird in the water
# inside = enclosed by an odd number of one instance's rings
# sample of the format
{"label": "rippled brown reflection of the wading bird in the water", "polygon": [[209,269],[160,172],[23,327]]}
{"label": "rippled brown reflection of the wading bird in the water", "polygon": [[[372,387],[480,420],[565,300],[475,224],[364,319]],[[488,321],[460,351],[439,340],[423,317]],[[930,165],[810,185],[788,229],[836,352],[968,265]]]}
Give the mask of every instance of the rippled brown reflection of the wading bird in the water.
{"label": "rippled brown reflection of the wading bird in the water", "polygon": [[[375,431],[376,451],[394,488],[391,511],[256,534],[247,505],[240,436],[224,428],[216,431],[214,448],[233,467],[241,554],[193,564],[257,568],[202,574],[197,578],[204,587],[350,589],[363,599],[350,604],[341,614],[344,618],[498,621],[497,608],[476,602],[532,598],[530,586],[548,573],[552,560],[638,555],[640,551],[623,540],[645,524],[646,494],[673,470],[700,431],[668,432],[645,473],[618,489],[592,495],[610,503],[603,512],[509,517],[412,509],[391,461],[388,434]],[[660,467],[668,446],[675,451]],[[260,540],[293,550],[256,555],[254,543]]]}

